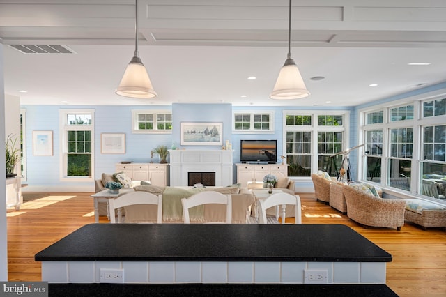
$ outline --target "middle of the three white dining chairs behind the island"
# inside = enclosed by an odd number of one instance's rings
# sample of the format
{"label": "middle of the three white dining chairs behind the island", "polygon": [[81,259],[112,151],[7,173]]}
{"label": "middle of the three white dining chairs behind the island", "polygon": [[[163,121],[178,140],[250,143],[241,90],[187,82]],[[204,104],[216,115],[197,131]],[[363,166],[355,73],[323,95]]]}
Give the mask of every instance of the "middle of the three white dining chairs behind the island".
{"label": "middle of the three white dining chairs behind the island", "polygon": [[215,191],[198,192],[189,198],[181,199],[181,204],[183,204],[183,221],[185,224],[190,224],[190,208],[204,204],[226,204],[226,223],[231,224],[232,222],[232,197],[229,194]]}

